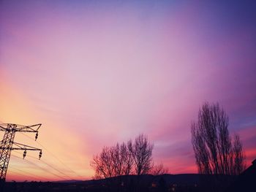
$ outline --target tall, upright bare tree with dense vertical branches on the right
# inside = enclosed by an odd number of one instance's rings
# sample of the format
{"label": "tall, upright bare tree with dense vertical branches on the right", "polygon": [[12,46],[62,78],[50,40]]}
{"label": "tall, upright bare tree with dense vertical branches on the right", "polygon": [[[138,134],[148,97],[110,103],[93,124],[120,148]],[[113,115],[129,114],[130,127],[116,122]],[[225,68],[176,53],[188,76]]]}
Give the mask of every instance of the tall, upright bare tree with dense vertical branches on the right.
{"label": "tall, upright bare tree with dense vertical branches on the right", "polygon": [[[227,114],[219,104],[203,104],[197,122],[191,127],[195,161],[200,174],[230,175],[244,171],[245,156],[241,141],[236,135],[232,143],[227,126]],[[223,180],[216,180],[215,183],[218,188]]]}

